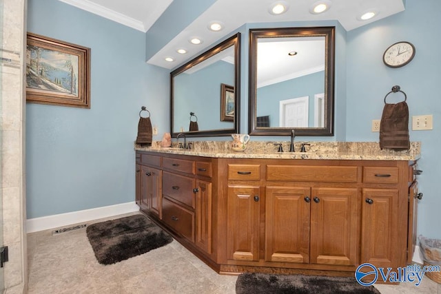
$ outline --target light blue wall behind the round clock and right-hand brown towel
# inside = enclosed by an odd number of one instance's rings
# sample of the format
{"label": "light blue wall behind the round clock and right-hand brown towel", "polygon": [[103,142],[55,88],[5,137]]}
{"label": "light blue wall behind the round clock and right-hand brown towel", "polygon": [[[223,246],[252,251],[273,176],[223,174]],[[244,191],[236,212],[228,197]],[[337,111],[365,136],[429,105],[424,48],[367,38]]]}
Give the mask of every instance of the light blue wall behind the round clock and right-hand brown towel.
{"label": "light blue wall behind the round clock and right-hand brown towel", "polygon": [[[424,4],[423,4],[424,2]],[[348,141],[378,141],[371,132],[371,120],[380,119],[384,96],[393,85],[400,85],[407,94],[409,115],[433,114],[432,131],[411,131],[413,141],[422,142],[424,172],[418,176],[424,198],[418,207],[418,234],[441,238],[441,47],[439,29],[441,1],[407,0],[406,10],[347,33],[347,135]],[[416,56],[408,65],[389,68],[382,63],[382,54],[389,45],[410,41]],[[402,99],[400,94],[388,96],[389,103]]]}

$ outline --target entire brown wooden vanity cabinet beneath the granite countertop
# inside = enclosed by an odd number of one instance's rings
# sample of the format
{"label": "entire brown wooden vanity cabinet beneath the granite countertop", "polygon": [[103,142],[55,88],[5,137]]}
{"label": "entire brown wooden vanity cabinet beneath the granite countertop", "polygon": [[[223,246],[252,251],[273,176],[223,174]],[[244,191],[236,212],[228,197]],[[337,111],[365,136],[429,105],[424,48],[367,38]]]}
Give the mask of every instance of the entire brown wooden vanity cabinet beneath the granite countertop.
{"label": "entire brown wooden vanity cabinet beneath the granite countertop", "polygon": [[156,156],[137,159],[141,211],[218,273],[353,275],[411,261],[415,161],[138,153]]}

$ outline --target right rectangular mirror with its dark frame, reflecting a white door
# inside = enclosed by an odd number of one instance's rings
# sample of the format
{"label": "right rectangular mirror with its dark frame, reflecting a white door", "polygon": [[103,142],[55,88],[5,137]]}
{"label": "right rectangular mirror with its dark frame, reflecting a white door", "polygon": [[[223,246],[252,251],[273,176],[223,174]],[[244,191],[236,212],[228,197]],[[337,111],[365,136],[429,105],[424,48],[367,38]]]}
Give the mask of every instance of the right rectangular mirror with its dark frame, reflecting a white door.
{"label": "right rectangular mirror with its dark frame, reflecting a white door", "polygon": [[334,135],[335,28],[249,30],[249,133]]}

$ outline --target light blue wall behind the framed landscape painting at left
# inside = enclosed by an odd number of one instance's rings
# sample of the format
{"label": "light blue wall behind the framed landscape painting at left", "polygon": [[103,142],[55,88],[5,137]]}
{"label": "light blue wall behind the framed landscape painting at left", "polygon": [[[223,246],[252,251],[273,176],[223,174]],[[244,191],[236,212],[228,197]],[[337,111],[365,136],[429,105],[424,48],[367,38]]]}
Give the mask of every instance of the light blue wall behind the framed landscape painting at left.
{"label": "light blue wall behind the framed landscape painting at left", "polygon": [[169,71],[145,63],[145,34],[57,0],[28,1],[28,32],[92,49],[91,108],[26,105],[28,218],[134,201],[141,105],[170,132]]}

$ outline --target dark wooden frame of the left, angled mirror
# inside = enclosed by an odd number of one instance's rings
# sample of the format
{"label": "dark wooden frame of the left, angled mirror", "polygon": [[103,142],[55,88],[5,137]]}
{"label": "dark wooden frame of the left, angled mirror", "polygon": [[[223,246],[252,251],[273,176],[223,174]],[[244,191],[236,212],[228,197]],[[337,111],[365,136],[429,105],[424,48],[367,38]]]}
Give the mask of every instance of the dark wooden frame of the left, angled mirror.
{"label": "dark wooden frame of the left, angled mirror", "polygon": [[[231,129],[207,129],[196,132],[174,132],[174,77],[231,46],[234,46],[234,127]],[[172,137],[176,137],[180,133],[185,134],[187,137],[226,136],[238,133],[240,129],[240,32],[170,72],[170,96],[170,134],[172,134]]]}

